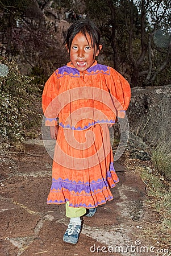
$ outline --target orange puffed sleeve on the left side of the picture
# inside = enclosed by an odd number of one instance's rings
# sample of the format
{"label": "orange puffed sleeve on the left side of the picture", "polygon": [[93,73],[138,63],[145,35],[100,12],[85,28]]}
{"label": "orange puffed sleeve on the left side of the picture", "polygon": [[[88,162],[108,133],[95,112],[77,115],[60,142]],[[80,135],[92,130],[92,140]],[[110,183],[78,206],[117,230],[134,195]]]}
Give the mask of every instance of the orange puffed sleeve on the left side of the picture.
{"label": "orange puffed sleeve on the left side of the picture", "polygon": [[58,94],[59,79],[57,79],[57,71],[55,71],[45,83],[42,94],[42,109],[45,115],[46,126],[57,125],[57,116],[59,114]]}

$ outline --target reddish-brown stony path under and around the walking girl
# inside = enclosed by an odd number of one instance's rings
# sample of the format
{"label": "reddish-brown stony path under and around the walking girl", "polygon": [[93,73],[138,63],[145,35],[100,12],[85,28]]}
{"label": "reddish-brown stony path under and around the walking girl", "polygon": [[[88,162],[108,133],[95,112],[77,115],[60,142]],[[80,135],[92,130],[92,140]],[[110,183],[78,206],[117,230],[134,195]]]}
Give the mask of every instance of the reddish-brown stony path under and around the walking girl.
{"label": "reddish-brown stony path under and around the walking girl", "polygon": [[98,207],[93,218],[84,217],[80,240],[70,245],[62,241],[68,224],[65,206],[46,204],[52,159],[42,142],[28,141],[4,152],[0,255],[157,255],[150,238],[142,235],[150,221],[144,207],[145,184],[121,163],[122,159],[115,163],[120,183],[111,190],[114,200]]}

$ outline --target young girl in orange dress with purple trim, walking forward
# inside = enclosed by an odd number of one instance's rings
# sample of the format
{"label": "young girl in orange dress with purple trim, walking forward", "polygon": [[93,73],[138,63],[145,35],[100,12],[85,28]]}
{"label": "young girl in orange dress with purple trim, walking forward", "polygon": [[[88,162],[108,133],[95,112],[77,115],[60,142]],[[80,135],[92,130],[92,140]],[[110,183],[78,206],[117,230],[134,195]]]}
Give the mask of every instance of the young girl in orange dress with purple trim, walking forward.
{"label": "young girl in orange dress with purple trim, walking forward", "polygon": [[45,125],[56,139],[47,203],[66,205],[70,222],[63,239],[75,244],[80,217],[92,217],[98,205],[113,199],[110,187],[119,179],[107,125],[113,125],[116,116],[124,117],[131,93],[118,72],[95,60],[102,46],[90,20],[70,26],[65,46],[70,62],[45,83],[42,106]]}

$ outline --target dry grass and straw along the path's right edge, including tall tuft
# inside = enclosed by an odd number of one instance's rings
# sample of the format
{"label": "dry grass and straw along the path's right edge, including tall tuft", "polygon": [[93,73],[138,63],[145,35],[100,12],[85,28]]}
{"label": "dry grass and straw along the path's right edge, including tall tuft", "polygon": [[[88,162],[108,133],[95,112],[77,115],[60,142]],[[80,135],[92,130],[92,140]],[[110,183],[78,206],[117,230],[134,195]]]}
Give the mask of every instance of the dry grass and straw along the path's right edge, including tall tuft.
{"label": "dry grass and straw along the path's right edge, including tall tuft", "polygon": [[144,220],[145,229],[141,235],[144,239],[151,239],[156,248],[165,249],[171,246],[170,145],[171,141],[158,143],[151,151],[151,160],[145,162],[132,160],[129,152],[125,153],[127,168],[136,172],[146,185],[147,200],[144,206],[148,215]]}

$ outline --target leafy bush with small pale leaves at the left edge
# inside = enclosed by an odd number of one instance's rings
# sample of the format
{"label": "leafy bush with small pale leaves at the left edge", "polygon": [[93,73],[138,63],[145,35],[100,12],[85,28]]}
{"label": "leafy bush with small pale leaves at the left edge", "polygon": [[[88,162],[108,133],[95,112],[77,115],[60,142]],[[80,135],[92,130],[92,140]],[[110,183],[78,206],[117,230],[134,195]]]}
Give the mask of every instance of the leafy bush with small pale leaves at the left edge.
{"label": "leafy bush with small pale leaves at the left edge", "polygon": [[9,73],[0,77],[0,137],[10,142],[21,141],[30,129],[33,134],[40,129],[41,113],[36,104],[40,102],[41,86],[32,84],[31,77],[22,75],[15,60],[3,58],[0,68],[2,64],[8,67]]}

